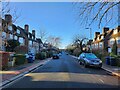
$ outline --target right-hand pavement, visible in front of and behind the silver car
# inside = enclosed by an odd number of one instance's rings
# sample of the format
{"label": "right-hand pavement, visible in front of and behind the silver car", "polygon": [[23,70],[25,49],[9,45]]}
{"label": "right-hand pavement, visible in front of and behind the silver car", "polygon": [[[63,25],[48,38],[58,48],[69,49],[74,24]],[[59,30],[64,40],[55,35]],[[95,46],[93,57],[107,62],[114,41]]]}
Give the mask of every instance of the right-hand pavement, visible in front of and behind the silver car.
{"label": "right-hand pavement, visible in front of and behind the silver car", "polygon": [[[76,56],[72,56],[72,57],[77,59]],[[118,67],[118,66],[106,65],[105,63],[103,63],[102,69],[106,70],[108,72],[108,74],[120,77],[120,67]]]}

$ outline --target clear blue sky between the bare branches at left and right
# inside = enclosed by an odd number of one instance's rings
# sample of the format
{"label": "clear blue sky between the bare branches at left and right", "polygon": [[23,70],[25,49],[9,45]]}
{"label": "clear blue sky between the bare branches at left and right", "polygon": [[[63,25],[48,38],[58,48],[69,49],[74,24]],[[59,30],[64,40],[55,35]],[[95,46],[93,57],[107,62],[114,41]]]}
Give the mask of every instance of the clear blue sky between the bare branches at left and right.
{"label": "clear blue sky between the bare branches at left and right", "polygon": [[[16,25],[24,27],[25,24],[28,24],[30,32],[33,29],[36,30],[37,37],[40,29],[45,29],[48,36],[61,37],[61,48],[70,44],[76,34],[89,38],[89,30],[80,28],[80,24],[76,22],[77,11],[71,2],[12,2],[11,7],[17,8],[21,13]],[[94,37],[95,31],[101,32],[101,29],[93,24],[92,37]]]}

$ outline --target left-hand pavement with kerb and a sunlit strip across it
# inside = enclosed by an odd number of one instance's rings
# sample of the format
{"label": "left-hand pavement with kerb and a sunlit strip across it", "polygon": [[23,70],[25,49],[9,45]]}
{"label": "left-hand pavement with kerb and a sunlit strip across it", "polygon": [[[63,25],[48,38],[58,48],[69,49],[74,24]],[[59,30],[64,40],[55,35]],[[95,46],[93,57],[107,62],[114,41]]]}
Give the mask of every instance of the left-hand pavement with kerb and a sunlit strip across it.
{"label": "left-hand pavement with kerb and a sunlit strip across it", "polygon": [[7,71],[0,71],[0,87],[7,85],[10,82],[17,80],[18,78],[24,76],[25,74],[37,69],[43,64],[47,63],[51,58],[45,60],[35,60],[34,63],[26,63],[17,67],[11,67]]}

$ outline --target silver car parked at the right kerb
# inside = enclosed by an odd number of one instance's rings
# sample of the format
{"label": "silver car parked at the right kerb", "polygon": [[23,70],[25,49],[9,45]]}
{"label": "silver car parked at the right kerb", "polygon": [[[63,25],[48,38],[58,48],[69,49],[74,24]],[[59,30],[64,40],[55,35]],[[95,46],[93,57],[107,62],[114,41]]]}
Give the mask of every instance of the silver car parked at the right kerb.
{"label": "silver car parked at the right kerb", "polygon": [[83,64],[84,67],[88,66],[94,66],[101,68],[102,67],[102,61],[97,58],[97,56],[93,53],[82,53],[78,57],[78,62],[80,64]]}

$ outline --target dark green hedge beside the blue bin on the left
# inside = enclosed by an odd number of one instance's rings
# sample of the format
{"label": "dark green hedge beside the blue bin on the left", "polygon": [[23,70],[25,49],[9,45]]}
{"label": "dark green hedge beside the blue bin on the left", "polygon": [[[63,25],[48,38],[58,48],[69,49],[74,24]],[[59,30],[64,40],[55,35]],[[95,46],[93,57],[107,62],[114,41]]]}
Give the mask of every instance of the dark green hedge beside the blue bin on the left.
{"label": "dark green hedge beside the blue bin on the left", "polygon": [[15,54],[14,60],[16,65],[24,64],[26,61],[26,56],[24,54]]}

